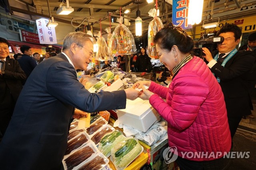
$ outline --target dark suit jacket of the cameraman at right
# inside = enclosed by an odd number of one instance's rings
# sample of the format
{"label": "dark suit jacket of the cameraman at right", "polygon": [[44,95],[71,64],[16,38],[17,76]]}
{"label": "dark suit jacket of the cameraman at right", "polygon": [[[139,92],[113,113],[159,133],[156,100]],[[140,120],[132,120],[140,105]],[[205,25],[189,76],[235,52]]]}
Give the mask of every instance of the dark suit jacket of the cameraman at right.
{"label": "dark suit jacket of the cameraman at right", "polygon": [[236,52],[223,67],[216,63],[212,73],[220,77],[228,117],[250,115],[252,101],[248,92],[247,75],[252,69],[254,56],[250,51]]}

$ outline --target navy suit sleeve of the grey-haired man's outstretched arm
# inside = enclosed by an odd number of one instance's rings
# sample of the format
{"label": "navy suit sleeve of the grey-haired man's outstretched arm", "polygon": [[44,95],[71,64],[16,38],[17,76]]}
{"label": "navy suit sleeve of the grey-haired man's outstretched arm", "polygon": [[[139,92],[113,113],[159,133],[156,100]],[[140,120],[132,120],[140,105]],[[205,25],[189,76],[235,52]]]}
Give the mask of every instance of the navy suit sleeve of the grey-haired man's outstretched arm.
{"label": "navy suit sleeve of the grey-haired man's outstretched arm", "polygon": [[126,107],[124,90],[90,93],[77,80],[74,67],[66,61],[54,63],[49,68],[46,87],[58,100],[89,113]]}

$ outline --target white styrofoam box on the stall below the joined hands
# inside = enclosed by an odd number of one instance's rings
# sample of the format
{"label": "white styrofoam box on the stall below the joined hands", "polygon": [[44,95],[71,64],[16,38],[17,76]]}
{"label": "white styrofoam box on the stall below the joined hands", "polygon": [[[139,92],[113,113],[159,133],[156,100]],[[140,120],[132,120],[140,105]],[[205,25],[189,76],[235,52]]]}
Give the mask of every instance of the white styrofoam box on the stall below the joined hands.
{"label": "white styrofoam box on the stall below the joined hands", "polygon": [[148,100],[137,98],[126,100],[126,109],[116,110],[120,123],[131,126],[142,132],[146,132],[156,121],[160,120],[160,115],[153,109]]}

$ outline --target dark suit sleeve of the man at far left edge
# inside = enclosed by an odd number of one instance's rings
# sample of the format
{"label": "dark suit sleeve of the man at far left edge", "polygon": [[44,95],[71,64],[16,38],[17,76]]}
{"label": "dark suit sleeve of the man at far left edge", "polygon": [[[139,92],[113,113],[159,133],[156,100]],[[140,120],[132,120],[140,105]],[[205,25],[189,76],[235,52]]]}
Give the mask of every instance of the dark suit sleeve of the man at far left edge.
{"label": "dark suit sleeve of the man at far left edge", "polygon": [[13,70],[5,70],[4,77],[7,79],[25,80],[26,74],[21,69],[18,61],[13,60],[12,65],[14,65]]}

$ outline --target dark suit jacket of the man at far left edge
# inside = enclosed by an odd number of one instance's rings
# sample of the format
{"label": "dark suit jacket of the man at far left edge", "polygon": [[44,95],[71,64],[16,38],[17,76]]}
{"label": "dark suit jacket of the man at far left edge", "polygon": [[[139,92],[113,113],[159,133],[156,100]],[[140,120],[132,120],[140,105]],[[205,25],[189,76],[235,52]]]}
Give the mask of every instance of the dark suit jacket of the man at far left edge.
{"label": "dark suit jacket of the man at far left edge", "polygon": [[[0,75],[0,93],[8,88],[14,101],[17,101],[22,89],[22,80],[26,79],[26,74],[21,69],[17,60],[6,58],[5,74]],[[2,96],[2,95],[0,95]],[[0,104],[4,103],[4,98],[0,98]]]}

